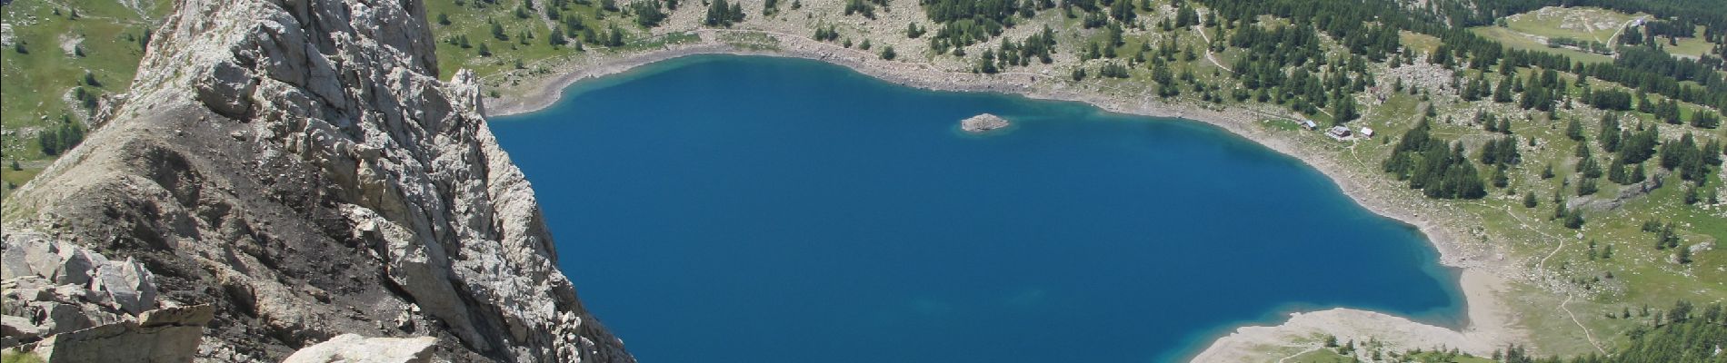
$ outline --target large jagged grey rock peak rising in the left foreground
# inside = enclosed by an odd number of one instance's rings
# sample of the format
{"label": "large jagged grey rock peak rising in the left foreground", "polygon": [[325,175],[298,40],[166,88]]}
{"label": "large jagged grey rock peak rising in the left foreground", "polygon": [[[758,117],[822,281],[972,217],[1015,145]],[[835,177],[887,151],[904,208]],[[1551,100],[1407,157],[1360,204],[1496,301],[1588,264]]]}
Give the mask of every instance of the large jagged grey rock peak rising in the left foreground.
{"label": "large jagged grey rock peak rising in the left foreground", "polygon": [[214,305],[202,360],[338,334],[446,360],[634,361],[575,296],[471,72],[418,0],[181,0],[104,124],[7,201],[19,232],[135,258]]}

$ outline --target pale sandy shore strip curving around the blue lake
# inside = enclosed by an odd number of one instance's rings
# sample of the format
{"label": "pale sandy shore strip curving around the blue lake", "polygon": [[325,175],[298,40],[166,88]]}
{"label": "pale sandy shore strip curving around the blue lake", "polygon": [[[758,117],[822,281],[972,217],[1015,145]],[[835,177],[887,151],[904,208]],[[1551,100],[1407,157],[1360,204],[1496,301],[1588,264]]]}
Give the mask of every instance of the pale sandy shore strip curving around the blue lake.
{"label": "pale sandy shore strip curving around the blue lake", "polygon": [[[1425,201],[1418,193],[1408,191],[1382,175],[1366,175],[1351,169],[1351,162],[1337,157],[1335,151],[1323,151],[1302,145],[1288,132],[1275,134],[1257,126],[1261,119],[1283,115],[1276,108],[1228,108],[1211,110],[1199,105],[1164,103],[1143,91],[1128,91],[1095,83],[1072,83],[1066,74],[971,74],[938,69],[929,64],[882,60],[874,53],[841,48],[838,45],[819,43],[803,36],[772,31],[732,31],[699,29],[701,41],[670,45],[660,50],[648,50],[627,55],[585,57],[556,65],[549,77],[518,79],[520,86],[511,88],[515,95],[485,100],[489,115],[511,115],[546,108],[558,102],[570,84],[606,74],[625,72],[646,64],[699,53],[731,55],[774,55],[812,58],[838,64],[905,86],[939,89],[939,91],[993,91],[1012,93],[1040,100],[1085,102],[1109,112],[1181,117],[1219,126],[1242,138],[1252,139],[1280,153],[1295,157],[1307,165],[1326,174],[1337,186],[1364,208],[1402,220],[1427,234],[1439,249],[1440,263],[1463,268],[1459,284],[1468,301],[1468,325],[1459,330],[1418,323],[1408,318],[1385,313],[1333,308],[1311,313],[1294,313],[1288,322],[1276,327],[1242,327],[1233,334],[1219,337],[1195,361],[1276,361],[1290,351],[1318,348],[1318,335],[1332,334],[1338,339],[1366,341],[1375,337],[1385,342],[1387,349],[1402,351],[1408,348],[1458,348],[1473,354],[1490,354],[1506,342],[1525,342],[1527,332],[1518,327],[1518,318],[1499,298],[1509,287],[1506,277],[1513,275],[1509,263],[1485,243],[1478,243],[1470,234],[1471,220],[1459,220],[1444,208]],[[743,50],[718,41],[722,34],[755,33],[777,40],[777,50]]]}

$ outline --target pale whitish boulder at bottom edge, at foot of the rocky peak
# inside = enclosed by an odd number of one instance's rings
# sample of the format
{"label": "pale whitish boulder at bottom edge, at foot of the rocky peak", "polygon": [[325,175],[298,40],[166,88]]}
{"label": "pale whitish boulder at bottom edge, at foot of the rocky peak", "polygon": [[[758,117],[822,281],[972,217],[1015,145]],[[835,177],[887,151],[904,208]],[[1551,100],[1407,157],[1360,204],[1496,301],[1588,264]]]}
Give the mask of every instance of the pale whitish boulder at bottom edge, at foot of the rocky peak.
{"label": "pale whitish boulder at bottom edge, at foot of the rocky peak", "polygon": [[282,363],[428,363],[433,337],[361,337],[342,334],[295,351]]}

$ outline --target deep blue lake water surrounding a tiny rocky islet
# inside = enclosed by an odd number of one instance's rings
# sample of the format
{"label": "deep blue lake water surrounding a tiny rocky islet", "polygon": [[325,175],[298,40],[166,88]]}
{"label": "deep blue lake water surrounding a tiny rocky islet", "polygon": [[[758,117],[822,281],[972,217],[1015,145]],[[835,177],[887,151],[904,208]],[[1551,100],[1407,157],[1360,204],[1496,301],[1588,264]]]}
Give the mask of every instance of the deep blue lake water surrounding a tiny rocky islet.
{"label": "deep blue lake water surrounding a tiny rocky islet", "polygon": [[[981,112],[1017,126],[955,129]],[[1199,122],[705,55],[492,127],[642,361],[1174,361],[1330,306],[1461,325],[1418,231]]]}

